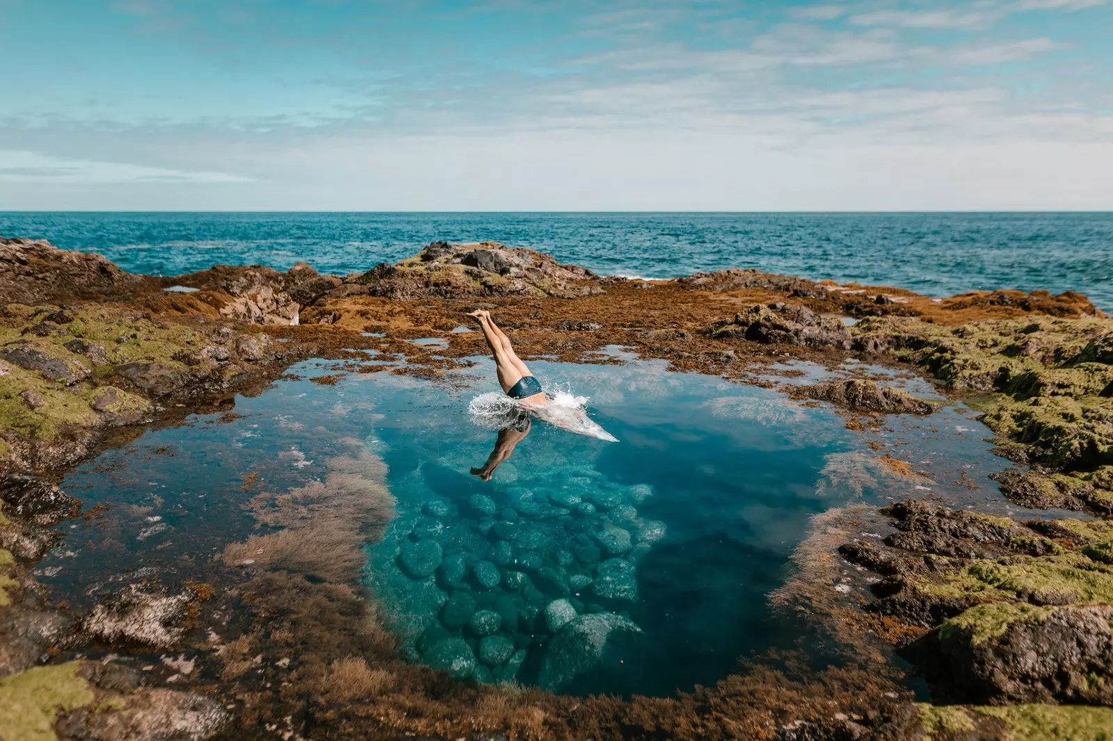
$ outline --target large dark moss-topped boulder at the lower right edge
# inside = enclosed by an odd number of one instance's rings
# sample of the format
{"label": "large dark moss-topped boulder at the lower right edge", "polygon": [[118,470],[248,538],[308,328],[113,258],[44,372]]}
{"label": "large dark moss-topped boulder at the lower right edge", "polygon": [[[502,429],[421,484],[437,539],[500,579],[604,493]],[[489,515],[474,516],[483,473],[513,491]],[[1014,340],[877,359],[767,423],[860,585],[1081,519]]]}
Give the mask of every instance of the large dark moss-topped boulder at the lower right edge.
{"label": "large dark moss-topped boulder at the lower right edge", "polygon": [[940,625],[915,655],[963,702],[1110,704],[1111,625],[1111,605],[981,605]]}

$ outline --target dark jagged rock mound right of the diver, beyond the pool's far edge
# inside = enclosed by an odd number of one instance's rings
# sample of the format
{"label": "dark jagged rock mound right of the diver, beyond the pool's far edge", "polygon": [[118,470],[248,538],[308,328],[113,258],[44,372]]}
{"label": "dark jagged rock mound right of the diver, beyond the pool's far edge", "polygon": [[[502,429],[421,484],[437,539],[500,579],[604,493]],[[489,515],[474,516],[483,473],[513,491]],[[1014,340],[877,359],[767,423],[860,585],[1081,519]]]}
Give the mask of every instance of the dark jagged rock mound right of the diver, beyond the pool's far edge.
{"label": "dark jagged rock mound right of the diver, beyond the pool's far edge", "polygon": [[765,345],[850,348],[850,332],[833,317],[806,306],[776,302],[751,306],[730,322],[717,322],[708,334],[718,339],[747,339]]}

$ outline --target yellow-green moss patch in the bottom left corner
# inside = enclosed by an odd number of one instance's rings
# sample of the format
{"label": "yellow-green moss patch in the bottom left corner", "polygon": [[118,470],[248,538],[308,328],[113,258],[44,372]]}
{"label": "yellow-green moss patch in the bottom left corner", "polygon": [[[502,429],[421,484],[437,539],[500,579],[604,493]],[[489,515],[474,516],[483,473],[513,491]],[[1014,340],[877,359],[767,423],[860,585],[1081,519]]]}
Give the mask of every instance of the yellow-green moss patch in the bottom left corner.
{"label": "yellow-green moss patch in the bottom left corner", "polygon": [[0,738],[14,741],[57,739],[58,711],[87,705],[92,690],[78,675],[81,662],[37,666],[0,680]]}

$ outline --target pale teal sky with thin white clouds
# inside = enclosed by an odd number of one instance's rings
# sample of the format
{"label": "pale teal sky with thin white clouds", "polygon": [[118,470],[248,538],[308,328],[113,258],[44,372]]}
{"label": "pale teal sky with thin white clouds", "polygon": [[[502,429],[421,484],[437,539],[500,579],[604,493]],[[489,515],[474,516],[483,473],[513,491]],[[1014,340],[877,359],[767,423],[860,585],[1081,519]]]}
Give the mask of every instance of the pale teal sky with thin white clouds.
{"label": "pale teal sky with thin white clouds", "polygon": [[1113,0],[0,0],[0,210],[1113,210]]}

